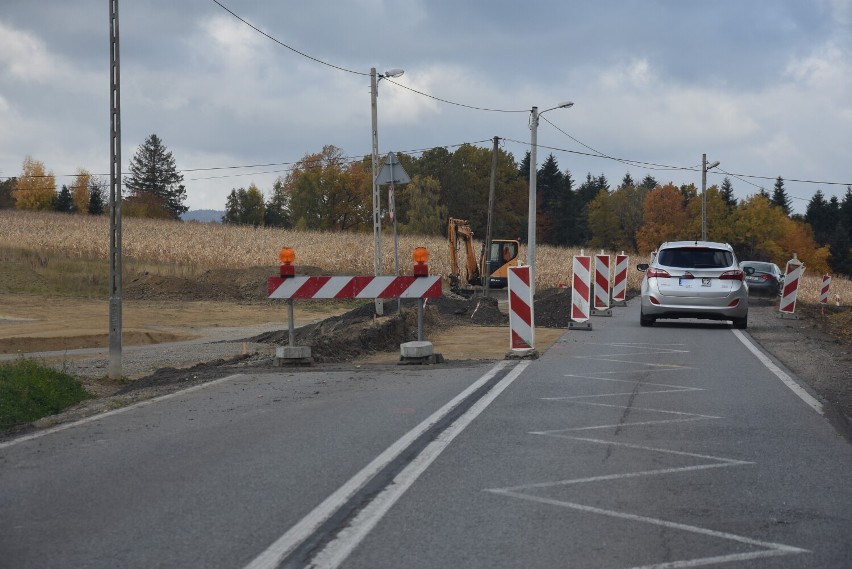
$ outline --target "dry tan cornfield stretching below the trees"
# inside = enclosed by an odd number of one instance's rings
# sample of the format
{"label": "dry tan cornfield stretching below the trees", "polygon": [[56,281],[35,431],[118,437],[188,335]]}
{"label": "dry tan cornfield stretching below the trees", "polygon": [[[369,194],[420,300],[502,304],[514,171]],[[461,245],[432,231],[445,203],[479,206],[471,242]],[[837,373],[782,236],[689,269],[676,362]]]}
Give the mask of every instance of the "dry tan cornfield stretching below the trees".
{"label": "dry tan cornfield stretching below the trees", "polygon": [[[71,258],[104,259],[109,256],[109,219],[106,216],[0,210],[0,246],[34,251],[52,251]],[[323,233],[277,228],[126,218],[122,222],[122,250],[125,259],[156,265],[209,268],[274,267],[278,252],[291,247],[296,266],[318,267],[328,274],[373,274],[373,235],[371,233]],[[399,269],[411,273],[411,253],[416,247],[430,252],[430,272],[450,272],[446,238],[401,235],[398,239]],[[477,243],[475,250],[479,251]],[[571,262],[580,249],[539,245],[536,259],[536,288],[554,288],[570,283]],[[594,254],[596,251],[586,251]],[[609,251],[615,255],[616,251]],[[526,249],[521,247],[521,257]],[[642,273],[632,257],[628,288],[638,290]],[[382,274],[394,272],[394,244],[389,234],[382,237]],[[817,302],[821,275],[802,278],[799,299]],[[841,304],[852,303],[852,281],[835,276],[830,302],[839,294]]]}

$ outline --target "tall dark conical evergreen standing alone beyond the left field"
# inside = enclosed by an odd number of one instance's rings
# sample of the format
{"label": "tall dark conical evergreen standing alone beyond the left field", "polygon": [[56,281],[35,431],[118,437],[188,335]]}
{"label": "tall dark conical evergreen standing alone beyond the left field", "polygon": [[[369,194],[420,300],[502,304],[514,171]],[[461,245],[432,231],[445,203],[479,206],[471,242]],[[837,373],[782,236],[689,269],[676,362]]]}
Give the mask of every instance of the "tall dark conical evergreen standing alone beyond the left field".
{"label": "tall dark conical evergreen standing alone beyond the left field", "polygon": [[149,136],[136,149],[130,161],[130,176],[124,179],[124,185],[137,198],[155,196],[175,219],[180,219],[180,215],[189,209],[184,205],[186,188],[183,186],[183,174],[178,172],[172,153],[156,134]]}

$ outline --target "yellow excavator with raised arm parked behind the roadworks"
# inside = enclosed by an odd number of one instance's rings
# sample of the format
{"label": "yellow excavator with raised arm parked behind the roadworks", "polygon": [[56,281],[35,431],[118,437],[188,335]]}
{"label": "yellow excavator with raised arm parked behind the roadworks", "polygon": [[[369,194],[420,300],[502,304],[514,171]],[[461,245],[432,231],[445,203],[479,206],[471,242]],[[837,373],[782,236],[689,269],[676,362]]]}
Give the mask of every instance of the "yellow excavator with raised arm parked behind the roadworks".
{"label": "yellow excavator with raised arm parked behind the roadworks", "polygon": [[[490,288],[504,288],[509,282],[509,267],[520,265],[518,257],[521,244],[516,239],[492,239],[491,250],[485,255],[485,244],[477,262],[473,251],[473,231],[467,220],[451,217],[447,226],[450,245],[450,290],[459,292],[464,285],[485,286],[483,275],[487,275]],[[465,275],[462,279],[459,266],[459,249],[464,246]]]}

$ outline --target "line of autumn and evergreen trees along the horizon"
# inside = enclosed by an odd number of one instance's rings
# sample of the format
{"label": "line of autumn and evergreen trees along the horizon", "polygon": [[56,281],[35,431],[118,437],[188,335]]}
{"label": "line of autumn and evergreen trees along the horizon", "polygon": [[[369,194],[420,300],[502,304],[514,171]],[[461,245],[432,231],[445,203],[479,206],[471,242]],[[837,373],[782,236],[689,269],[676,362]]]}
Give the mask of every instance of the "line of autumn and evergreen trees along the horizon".
{"label": "line of autumn and evergreen trees along the horizon", "polygon": [[[401,233],[441,235],[448,217],[462,218],[475,235],[484,237],[494,158],[490,148],[433,148],[398,158],[411,182],[395,188],[392,212],[387,188],[382,188],[386,221],[393,215]],[[494,237],[526,236],[529,164],[529,153],[518,162],[497,150]],[[371,231],[371,176],[369,156],[348,158],[329,145],[302,158],[272,188],[264,191],[253,183],[233,188],[222,221]],[[536,182],[537,240],[542,244],[644,255],[663,241],[701,234],[702,199],[694,184],[660,183],[650,174],[637,182],[629,173],[618,185],[591,173],[578,183],[569,170],[560,170],[552,154],[538,169]],[[71,186],[57,191],[53,175],[28,157],[20,177],[0,184],[0,207],[99,213],[104,188],[102,180],[80,169]],[[124,189],[124,215],[179,219],[187,210],[183,177],[155,134],[137,149]],[[826,199],[817,190],[804,215],[792,215],[781,177],[771,193],[761,189],[740,201],[726,177],[720,186],[710,186],[705,197],[708,238],[730,243],[741,259],[783,264],[796,252],[814,271],[852,275],[852,188],[847,187],[842,199]]]}

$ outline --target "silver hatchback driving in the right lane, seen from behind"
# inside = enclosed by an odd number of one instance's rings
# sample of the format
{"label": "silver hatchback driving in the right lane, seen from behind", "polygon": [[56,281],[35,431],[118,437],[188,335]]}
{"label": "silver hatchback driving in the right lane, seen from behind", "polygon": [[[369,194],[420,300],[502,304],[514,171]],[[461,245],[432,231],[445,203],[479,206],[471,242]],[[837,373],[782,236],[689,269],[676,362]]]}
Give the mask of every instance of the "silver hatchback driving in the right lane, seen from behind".
{"label": "silver hatchback driving in the right lane, seen from behind", "polygon": [[650,264],[637,268],[645,273],[642,326],[652,326],[658,318],[706,318],[748,327],[745,274],[727,243],[663,243]]}

